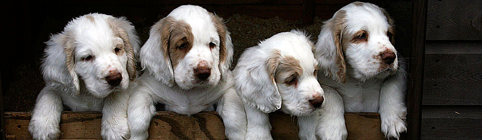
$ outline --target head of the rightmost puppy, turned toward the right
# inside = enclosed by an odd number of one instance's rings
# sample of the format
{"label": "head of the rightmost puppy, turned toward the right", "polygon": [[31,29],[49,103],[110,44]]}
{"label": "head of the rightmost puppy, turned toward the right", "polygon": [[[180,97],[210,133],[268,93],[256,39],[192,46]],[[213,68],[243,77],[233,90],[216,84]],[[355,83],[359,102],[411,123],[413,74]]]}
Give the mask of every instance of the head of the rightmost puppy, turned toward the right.
{"label": "head of the rightmost puppy, turned toward the right", "polygon": [[384,78],[398,69],[393,36],[393,20],[384,9],[351,3],[325,22],[315,56],[325,75],[338,82],[344,82],[346,69],[362,81]]}

